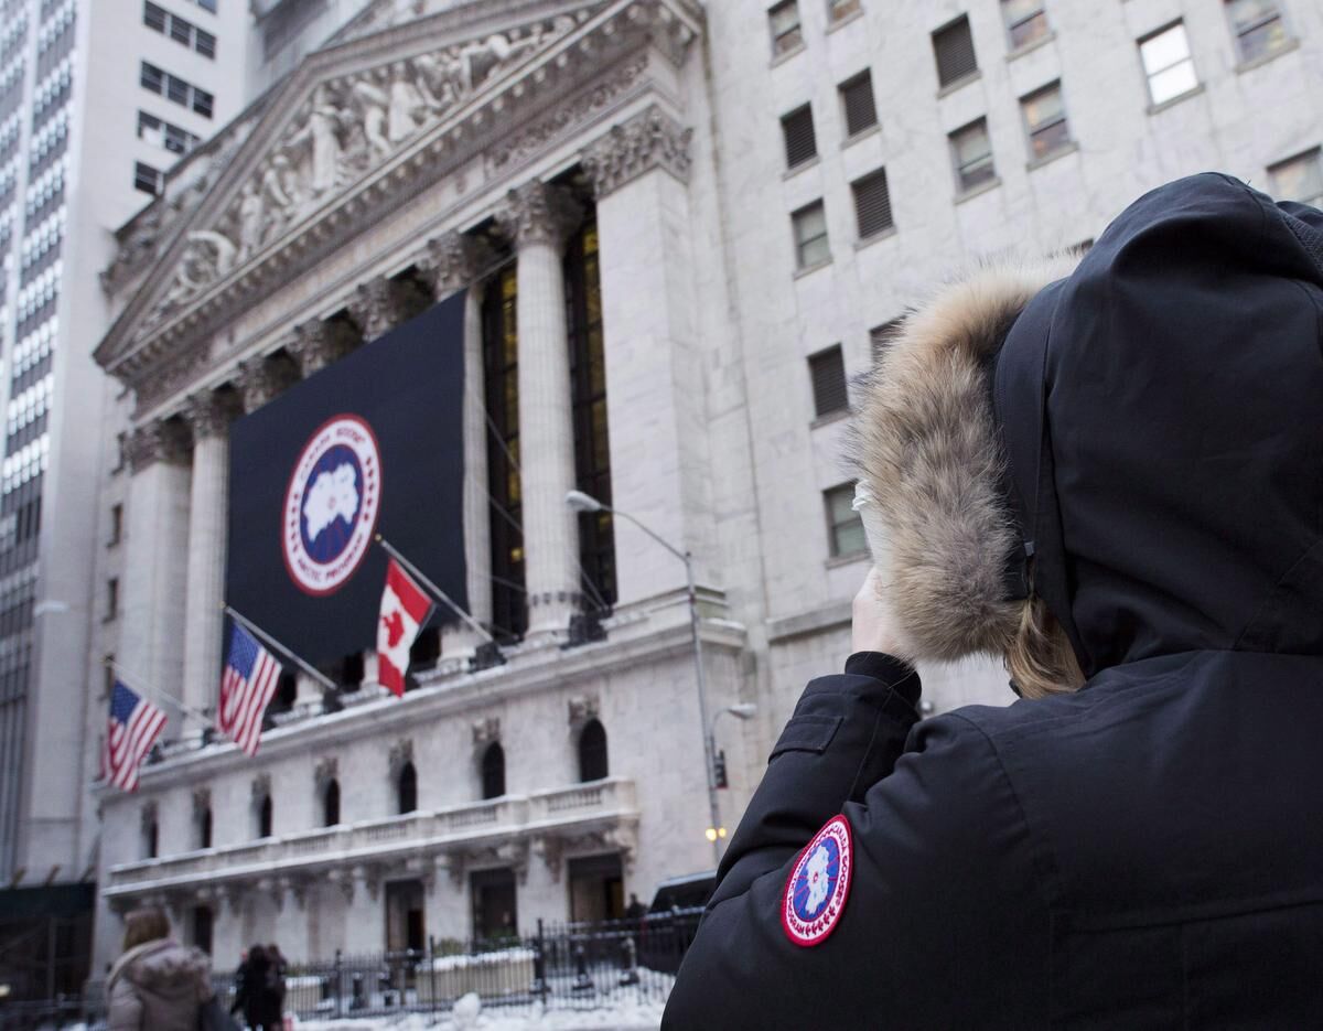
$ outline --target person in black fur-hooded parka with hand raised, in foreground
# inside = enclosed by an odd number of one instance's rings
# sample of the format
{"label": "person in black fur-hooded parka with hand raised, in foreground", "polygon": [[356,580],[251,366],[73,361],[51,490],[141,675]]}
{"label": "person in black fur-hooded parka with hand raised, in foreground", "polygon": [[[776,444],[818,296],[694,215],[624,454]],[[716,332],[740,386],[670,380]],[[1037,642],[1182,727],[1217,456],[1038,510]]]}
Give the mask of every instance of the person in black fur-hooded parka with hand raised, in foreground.
{"label": "person in black fur-hooded parka with hand raised, in foreground", "polygon": [[[1200,175],[912,314],[875,569],[664,1028],[1323,1026],[1323,213]],[[913,662],[1024,697],[918,720]]]}

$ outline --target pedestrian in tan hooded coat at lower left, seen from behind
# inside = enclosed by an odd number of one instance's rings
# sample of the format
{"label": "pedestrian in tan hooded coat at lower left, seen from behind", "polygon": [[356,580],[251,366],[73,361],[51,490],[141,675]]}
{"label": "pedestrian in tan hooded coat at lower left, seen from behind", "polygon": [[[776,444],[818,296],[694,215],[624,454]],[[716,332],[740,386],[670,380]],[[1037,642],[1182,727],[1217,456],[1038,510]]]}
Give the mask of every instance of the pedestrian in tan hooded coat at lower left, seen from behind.
{"label": "pedestrian in tan hooded coat at lower left, seen from behind", "polygon": [[124,952],[110,970],[107,1031],[196,1031],[212,998],[212,964],[201,949],[169,936],[156,908],[124,920]]}

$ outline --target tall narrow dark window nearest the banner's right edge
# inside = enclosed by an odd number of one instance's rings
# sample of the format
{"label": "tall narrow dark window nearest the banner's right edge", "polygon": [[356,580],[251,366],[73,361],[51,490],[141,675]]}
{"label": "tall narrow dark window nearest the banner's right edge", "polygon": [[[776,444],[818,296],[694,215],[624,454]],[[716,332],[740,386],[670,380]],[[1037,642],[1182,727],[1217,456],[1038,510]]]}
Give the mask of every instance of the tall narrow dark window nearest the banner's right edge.
{"label": "tall narrow dark window nearest the banner's right edge", "polygon": [[483,390],[487,401],[487,496],[492,635],[519,641],[528,627],[519,479],[519,286],[515,266],[483,291]]}

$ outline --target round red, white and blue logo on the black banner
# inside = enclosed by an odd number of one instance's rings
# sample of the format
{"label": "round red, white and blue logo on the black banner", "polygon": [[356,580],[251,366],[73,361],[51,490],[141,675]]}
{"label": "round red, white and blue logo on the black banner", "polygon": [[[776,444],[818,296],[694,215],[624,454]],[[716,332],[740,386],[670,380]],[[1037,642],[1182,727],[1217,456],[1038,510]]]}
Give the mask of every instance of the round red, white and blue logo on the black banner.
{"label": "round red, white and blue logo on the black banner", "polygon": [[381,507],[381,454],[359,416],[336,416],[312,434],[284,494],[280,545],[300,590],[332,594],[372,544]]}

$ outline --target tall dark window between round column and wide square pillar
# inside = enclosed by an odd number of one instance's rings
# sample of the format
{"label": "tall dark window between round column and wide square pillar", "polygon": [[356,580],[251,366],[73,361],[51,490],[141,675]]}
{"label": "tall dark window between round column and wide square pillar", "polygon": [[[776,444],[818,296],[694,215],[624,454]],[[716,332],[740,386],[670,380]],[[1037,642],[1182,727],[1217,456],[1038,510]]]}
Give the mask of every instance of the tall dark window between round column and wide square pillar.
{"label": "tall dark window between round column and wide square pillar", "polygon": [[[606,351],[597,217],[590,214],[565,251],[570,343],[570,408],[574,420],[574,484],[611,504],[611,439],[607,431]],[[617,600],[615,524],[610,512],[579,512],[583,596],[599,611]]]}

